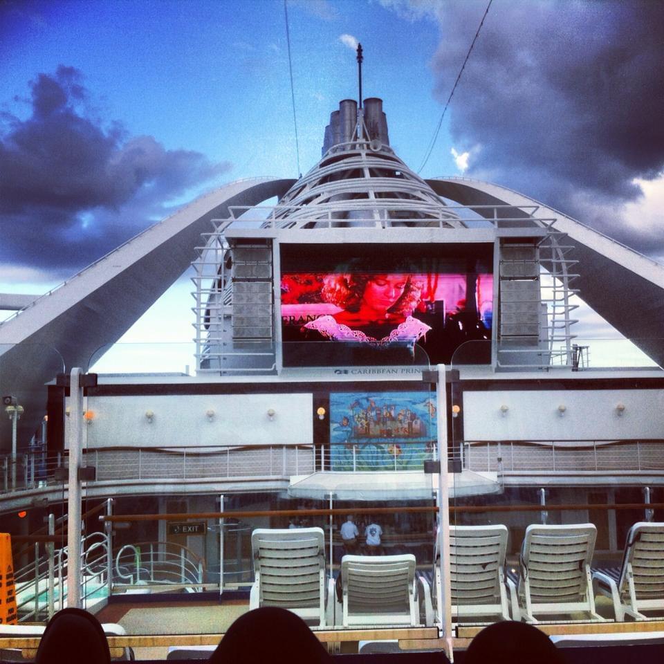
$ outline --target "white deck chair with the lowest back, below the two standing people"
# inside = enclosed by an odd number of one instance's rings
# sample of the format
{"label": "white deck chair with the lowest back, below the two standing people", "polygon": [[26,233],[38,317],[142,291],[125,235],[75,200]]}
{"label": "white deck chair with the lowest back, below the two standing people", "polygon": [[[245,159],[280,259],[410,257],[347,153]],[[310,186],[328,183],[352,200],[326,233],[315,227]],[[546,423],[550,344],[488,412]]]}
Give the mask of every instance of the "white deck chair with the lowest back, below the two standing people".
{"label": "white deck chair with the lowest back, below the two standing people", "polygon": [[341,579],[344,627],[419,624],[412,553],[344,555]]}

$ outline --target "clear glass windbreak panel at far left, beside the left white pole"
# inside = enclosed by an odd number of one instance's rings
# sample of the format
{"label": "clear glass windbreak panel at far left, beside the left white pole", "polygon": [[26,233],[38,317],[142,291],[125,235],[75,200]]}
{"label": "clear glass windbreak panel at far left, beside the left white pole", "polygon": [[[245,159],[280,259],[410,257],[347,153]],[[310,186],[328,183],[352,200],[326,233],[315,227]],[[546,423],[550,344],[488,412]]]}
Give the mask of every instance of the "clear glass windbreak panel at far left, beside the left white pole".
{"label": "clear glass windbreak panel at far left, beside the left white pole", "polygon": [[[47,620],[57,609],[57,575],[49,570],[66,541],[68,454],[62,445],[64,404],[55,388],[63,372],[62,354],[46,344],[0,346],[0,532],[11,537],[15,619],[21,622]],[[58,405],[60,425],[48,418]],[[8,589],[3,583],[6,607]]]}

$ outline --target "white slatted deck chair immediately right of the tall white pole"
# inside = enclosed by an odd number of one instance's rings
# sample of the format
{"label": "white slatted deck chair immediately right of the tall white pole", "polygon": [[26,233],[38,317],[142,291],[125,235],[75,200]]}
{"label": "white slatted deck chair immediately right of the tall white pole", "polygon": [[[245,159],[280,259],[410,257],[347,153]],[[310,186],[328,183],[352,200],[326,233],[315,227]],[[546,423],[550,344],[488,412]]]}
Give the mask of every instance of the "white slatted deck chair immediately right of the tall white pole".
{"label": "white slatted deck chair immediately right of the tall white pole", "polygon": [[[506,589],[510,591],[512,617],[521,620],[517,588],[505,574],[507,536],[507,527],[501,525],[450,526],[450,586],[452,620],[455,622],[475,616],[497,616],[510,620]],[[425,602],[427,625],[432,625],[435,619],[433,607],[426,606],[426,602],[432,594],[434,598],[439,596],[437,589],[441,579],[438,564],[434,565],[433,580],[435,592],[431,593],[425,585],[427,578],[424,575],[419,578],[423,587],[421,597]]]}

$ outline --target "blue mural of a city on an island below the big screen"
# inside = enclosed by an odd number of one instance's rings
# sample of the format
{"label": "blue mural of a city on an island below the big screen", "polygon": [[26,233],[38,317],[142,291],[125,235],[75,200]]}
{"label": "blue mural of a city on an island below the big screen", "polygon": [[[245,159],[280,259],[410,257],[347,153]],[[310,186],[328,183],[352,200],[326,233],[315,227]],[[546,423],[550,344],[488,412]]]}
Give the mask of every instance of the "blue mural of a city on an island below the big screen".
{"label": "blue mural of a city on an island below the big screen", "polygon": [[436,445],[435,402],[425,391],[331,394],[331,469],[421,469]]}

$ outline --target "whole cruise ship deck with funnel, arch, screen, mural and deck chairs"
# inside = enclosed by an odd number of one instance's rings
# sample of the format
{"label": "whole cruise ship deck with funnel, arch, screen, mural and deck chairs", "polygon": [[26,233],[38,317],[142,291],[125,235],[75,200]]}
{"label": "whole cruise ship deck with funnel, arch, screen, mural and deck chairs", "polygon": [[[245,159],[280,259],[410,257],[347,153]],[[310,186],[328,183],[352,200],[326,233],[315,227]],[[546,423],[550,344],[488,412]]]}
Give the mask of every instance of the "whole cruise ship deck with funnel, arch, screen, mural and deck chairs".
{"label": "whole cruise ship deck with funnel, arch, screen, mural and deck chairs", "polygon": [[[167,373],[158,331],[116,341],[190,264],[195,370]],[[643,661],[664,639],[663,288],[524,194],[423,180],[381,100],[342,101],[297,181],[203,196],[0,324],[0,658],[63,607],[118,658],[194,661],[282,606],[338,654],[463,662],[517,620],[569,662]],[[625,340],[578,338],[579,306]],[[118,358],[136,372],[98,368]]]}

